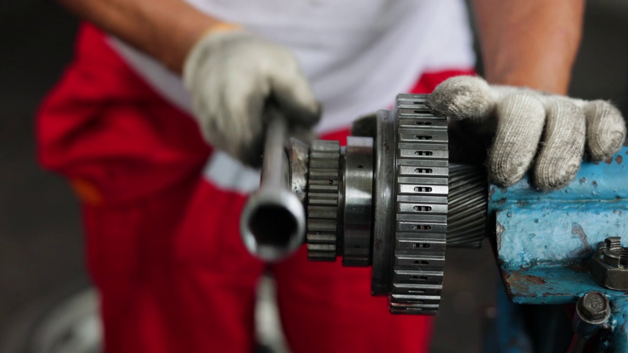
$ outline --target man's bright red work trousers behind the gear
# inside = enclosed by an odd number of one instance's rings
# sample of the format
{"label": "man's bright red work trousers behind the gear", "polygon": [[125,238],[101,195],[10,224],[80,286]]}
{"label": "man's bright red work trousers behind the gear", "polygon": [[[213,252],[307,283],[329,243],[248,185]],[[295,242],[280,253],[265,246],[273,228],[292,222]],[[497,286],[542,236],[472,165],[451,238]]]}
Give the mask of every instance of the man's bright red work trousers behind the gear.
{"label": "man's bright red work trousers behind the gear", "polygon": [[[391,315],[385,297],[370,295],[371,269],[310,263],[305,249],[277,264],[252,258],[238,230],[246,196],[203,179],[212,149],[193,119],[104,38],[82,26],[38,112],[37,138],[42,165],[82,199],[107,352],[251,352],[267,269],[293,352],[428,351],[432,318]],[[424,74],[412,91],[469,72]]]}

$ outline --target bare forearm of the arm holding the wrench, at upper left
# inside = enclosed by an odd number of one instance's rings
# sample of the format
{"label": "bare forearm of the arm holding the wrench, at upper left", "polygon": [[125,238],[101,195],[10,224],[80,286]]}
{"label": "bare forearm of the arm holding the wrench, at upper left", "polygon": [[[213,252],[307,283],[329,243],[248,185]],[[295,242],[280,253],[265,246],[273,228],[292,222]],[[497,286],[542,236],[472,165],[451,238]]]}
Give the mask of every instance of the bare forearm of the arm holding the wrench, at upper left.
{"label": "bare forearm of the arm holding the wrench, at upper left", "polygon": [[203,33],[225,25],[181,0],[57,1],[177,73]]}

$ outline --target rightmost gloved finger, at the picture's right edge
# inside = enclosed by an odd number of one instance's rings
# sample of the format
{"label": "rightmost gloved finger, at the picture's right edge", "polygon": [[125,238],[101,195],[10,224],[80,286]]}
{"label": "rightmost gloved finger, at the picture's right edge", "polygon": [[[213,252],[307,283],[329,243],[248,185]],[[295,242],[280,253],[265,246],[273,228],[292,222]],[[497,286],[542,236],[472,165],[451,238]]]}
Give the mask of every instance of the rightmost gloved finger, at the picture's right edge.
{"label": "rightmost gloved finger, at the picture's right edge", "polygon": [[587,148],[593,161],[609,158],[624,143],[626,126],[622,113],[609,102],[592,100],[584,106]]}

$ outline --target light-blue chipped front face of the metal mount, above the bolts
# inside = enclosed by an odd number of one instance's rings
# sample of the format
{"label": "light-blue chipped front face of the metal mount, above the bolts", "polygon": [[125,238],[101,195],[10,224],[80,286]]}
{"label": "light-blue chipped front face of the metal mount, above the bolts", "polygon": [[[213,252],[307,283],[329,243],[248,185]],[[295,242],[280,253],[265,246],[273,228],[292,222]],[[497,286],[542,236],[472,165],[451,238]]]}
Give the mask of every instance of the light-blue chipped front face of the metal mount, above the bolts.
{"label": "light-blue chipped front face of the metal mount, above the bolts", "polygon": [[497,212],[506,229],[497,234],[504,267],[588,259],[598,242],[628,234],[628,202],[553,203],[513,204]]}

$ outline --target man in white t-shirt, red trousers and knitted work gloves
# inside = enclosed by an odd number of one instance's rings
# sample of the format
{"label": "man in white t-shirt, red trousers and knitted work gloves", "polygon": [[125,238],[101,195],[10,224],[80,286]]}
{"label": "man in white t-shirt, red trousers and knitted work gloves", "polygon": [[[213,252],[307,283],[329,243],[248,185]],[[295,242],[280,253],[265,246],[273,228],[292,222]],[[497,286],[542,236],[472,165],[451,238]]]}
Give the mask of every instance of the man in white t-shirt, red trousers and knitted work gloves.
{"label": "man in white t-shirt, red trousers and knitted work gloves", "polygon": [[[237,224],[259,183],[245,165],[259,163],[268,104],[304,136],[320,101],[318,132],[339,139],[399,92],[431,92],[472,73],[462,2],[59,1],[112,35],[82,26],[75,60],[38,121],[43,165],[82,199],[109,352],[250,352],[254,291],[267,268],[293,351],[427,351],[431,318],[390,315],[386,298],[369,295],[369,269],[310,264],[303,249],[261,263]],[[475,9],[490,83],[565,94],[582,1],[478,0]],[[542,188],[573,178],[586,119],[598,126],[587,136],[596,158],[625,134],[605,103],[474,78],[449,80],[434,97],[436,111],[480,126],[497,112],[489,159],[502,183],[533,165],[546,125],[559,138],[534,164]],[[561,121],[577,122],[565,130]]]}

